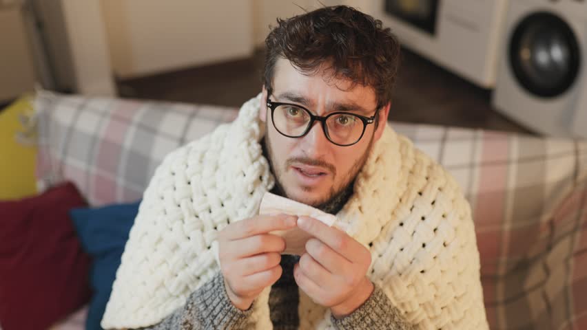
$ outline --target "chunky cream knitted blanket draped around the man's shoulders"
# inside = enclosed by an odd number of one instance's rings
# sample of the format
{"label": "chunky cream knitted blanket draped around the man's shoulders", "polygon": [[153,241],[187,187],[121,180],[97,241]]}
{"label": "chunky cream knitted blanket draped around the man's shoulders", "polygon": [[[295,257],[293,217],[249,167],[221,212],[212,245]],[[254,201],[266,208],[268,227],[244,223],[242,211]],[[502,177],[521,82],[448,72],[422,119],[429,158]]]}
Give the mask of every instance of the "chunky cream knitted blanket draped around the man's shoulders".
{"label": "chunky cream knitted blanket draped around the man's shoulders", "polygon": [[[219,230],[257,214],[274,186],[260,140],[260,95],[238,118],[169,153],[143,195],[101,325],[147,327],[219,271]],[[488,329],[471,210],[457,182],[389,125],[373,145],[338,221],[369,248],[367,275],[418,329]],[[254,304],[272,329],[268,287]],[[331,328],[300,290],[300,329]]]}

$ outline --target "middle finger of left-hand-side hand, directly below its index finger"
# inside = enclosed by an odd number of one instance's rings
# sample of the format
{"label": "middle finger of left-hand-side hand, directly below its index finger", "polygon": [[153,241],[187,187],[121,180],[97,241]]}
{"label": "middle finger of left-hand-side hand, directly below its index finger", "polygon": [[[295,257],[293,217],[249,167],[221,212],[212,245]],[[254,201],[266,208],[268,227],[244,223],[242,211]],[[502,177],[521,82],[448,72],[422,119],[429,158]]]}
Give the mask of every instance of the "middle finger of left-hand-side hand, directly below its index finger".
{"label": "middle finger of left-hand-side hand, directly below its index finger", "polygon": [[226,243],[224,253],[233,259],[241,259],[260,253],[278,252],[285,250],[285,239],[274,234],[258,234],[238,241]]}

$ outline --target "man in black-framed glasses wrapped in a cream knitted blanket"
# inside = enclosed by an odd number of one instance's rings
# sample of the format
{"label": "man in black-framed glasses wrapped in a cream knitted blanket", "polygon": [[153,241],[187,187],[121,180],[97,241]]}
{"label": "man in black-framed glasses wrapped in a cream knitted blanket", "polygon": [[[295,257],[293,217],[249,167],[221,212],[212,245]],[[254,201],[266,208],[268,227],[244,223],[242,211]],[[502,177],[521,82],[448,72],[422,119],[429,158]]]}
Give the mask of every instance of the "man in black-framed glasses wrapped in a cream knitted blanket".
{"label": "man in black-framed glasses wrapped in a cream knitted blanket", "polygon": [[[264,85],[170,153],[145,191],[102,326],[487,329],[471,211],[387,124],[399,45],[353,8],[278,20]],[[260,216],[265,192],[336,214]],[[272,234],[313,238],[282,255]]]}

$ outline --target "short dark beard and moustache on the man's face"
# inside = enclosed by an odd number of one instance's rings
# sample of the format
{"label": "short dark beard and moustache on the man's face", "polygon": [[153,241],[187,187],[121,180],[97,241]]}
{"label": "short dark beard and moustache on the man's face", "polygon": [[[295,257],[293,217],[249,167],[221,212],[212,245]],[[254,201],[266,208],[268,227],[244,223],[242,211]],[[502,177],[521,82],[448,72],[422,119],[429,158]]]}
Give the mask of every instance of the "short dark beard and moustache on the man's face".
{"label": "short dark beard and moustache on the man's face", "polygon": [[[267,125],[269,125],[269,120],[267,120]],[[266,127],[265,132],[269,132],[269,127]],[[344,177],[341,181],[341,184],[339,184],[338,186],[331,186],[326,196],[311,201],[310,203],[307,203],[309,206],[312,206],[313,208],[318,208],[318,210],[322,210],[323,212],[327,212],[330,214],[336,214],[338,213],[338,211],[342,209],[342,207],[345,203],[347,203],[351,195],[353,195],[355,179],[359,171],[365,164],[365,162],[367,162],[367,157],[369,157],[369,154],[371,153],[371,148],[373,147],[373,135],[371,135],[369,145],[367,146],[367,149],[364,151],[361,157],[359,157],[354,162],[353,166],[351,166],[351,170],[349,170],[348,173],[344,173]],[[275,154],[273,153],[273,146],[271,146],[271,141],[269,141],[268,136],[269,134],[265,133],[265,136],[263,137],[261,142],[261,146],[263,155],[265,156],[265,158],[267,158],[267,161],[269,162],[269,168],[271,168],[271,172],[274,173],[275,176],[275,186],[273,189],[271,189],[271,192],[276,195],[292,199],[290,196],[287,195],[287,190],[282,185],[282,169],[279,166],[276,166],[276,159]],[[287,164],[292,162],[331,168],[333,170],[333,173],[336,174],[335,166],[323,162],[319,159],[311,159],[308,157],[292,157],[286,159],[284,163],[286,164],[285,168],[287,168]]]}

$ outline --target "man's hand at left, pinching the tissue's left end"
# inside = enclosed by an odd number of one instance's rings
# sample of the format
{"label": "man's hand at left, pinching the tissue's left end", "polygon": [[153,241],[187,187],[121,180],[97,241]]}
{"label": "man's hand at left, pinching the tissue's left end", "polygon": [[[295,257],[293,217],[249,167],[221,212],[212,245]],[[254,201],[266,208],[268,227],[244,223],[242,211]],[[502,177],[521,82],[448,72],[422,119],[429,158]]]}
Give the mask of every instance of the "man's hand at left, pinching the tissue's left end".
{"label": "man's hand at left, pinching the tissue's left end", "polygon": [[282,237],[268,234],[296,226],[291,215],[258,215],[227,225],[218,234],[220,270],[228,297],[243,311],[281,277],[279,265],[285,250]]}

